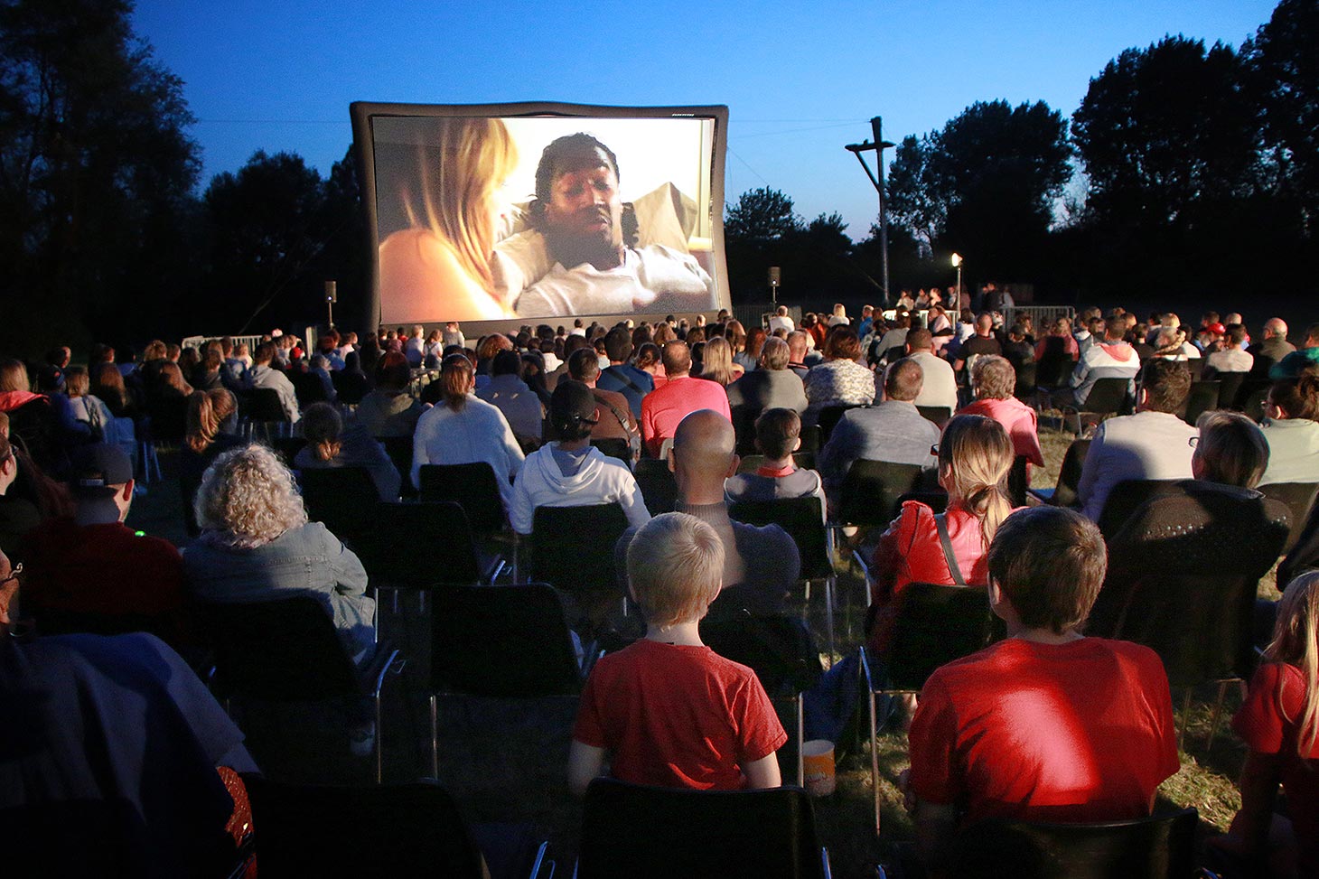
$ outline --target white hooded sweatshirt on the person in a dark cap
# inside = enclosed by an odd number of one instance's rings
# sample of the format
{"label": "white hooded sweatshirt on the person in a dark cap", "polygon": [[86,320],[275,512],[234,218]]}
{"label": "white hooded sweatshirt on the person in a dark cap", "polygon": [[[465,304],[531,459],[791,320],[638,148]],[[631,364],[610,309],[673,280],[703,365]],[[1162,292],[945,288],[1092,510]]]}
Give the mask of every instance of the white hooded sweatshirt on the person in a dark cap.
{"label": "white hooded sweatshirt on the person in a dark cap", "polygon": [[628,524],[644,525],[650,513],[641,499],[641,488],[632,471],[616,458],[588,446],[575,472],[566,475],[555,457],[558,442],[541,446],[526,457],[522,471],[513,483],[513,503],[508,516],[513,531],[532,533],[537,507],[590,507],[619,504]]}

